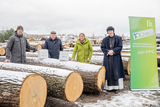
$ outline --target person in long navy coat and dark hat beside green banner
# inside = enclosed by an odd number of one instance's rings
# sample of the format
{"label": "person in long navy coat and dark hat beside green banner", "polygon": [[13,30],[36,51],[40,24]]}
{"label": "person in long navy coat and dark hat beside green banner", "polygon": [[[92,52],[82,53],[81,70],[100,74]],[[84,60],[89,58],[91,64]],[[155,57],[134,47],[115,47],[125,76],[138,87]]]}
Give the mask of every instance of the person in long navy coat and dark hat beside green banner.
{"label": "person in long navy coat and dark hat beside green banner", "polygon": [[119,92],[123,89],[123,78],[125,77],[121,58],[122,38],[115,35],[114,28],[107,28],[108,36],[101,44],[101,50],[104,53],[103,65],[106,68],[106,83],[104,89],[107,91]]}

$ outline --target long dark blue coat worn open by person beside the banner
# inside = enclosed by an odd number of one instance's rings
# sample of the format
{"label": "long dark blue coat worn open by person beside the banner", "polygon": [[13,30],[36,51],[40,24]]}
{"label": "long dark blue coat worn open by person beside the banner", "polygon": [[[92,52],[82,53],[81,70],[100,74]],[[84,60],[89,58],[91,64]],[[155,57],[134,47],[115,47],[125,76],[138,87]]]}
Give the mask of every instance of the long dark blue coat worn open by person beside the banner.
{"label": "long dark blue coat worn open by person beside the banner", "polygon": [[[122,50],[122,38],[120,36],[115,35],[115,43],[113,47],[114,55],[113,55],[113,72],[114,79],[118,80],[119,78],[124,78],[124,68],[121,58],[121,50]],[[104,53],[103,65],[106,68],[106,80],[109,80],[110,71],[109,71],[109,61],[108,61],[108,51],[111,50],[109,47],[109,36],[105,37],[101,44],[101,50]]]}

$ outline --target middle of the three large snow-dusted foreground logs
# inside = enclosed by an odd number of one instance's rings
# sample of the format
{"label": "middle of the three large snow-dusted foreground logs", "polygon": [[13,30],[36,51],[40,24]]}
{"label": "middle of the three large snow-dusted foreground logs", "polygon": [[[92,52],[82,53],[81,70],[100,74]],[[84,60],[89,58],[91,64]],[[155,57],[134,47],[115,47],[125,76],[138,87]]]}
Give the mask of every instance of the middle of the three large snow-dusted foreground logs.
{"label": "middle of the three large snow-dusted foreground logs", "polygon": [[76,101],[83,91],[83,80],[77,72],[50,67],[3,62],[0,62],[0,69],[40,74],[47,81],[48,95],[65,99],[70,102]]}

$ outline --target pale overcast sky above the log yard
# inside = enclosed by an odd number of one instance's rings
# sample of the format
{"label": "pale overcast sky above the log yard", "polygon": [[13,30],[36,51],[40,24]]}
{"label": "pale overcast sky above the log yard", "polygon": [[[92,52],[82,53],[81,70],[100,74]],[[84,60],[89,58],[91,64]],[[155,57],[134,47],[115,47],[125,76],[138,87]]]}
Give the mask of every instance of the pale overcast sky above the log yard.
{"label": "pale overcast sky above the log yard", "polygon": [[22,25],[27,33],[105,34],[114,26],[129,32],[128,16],[155,17],[160,32],[160,0],[1,0],[0,29]]}

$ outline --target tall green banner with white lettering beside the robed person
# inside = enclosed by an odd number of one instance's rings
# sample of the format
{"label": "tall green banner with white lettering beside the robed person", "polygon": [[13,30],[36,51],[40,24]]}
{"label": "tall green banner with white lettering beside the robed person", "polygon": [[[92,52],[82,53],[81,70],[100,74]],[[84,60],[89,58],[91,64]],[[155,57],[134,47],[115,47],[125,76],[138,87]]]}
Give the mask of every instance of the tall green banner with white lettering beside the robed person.
{"label": "tall green banner with white lettering beside the robed person", "polygon": [[158,89],[155,18],[129,17],[131,89]]}

